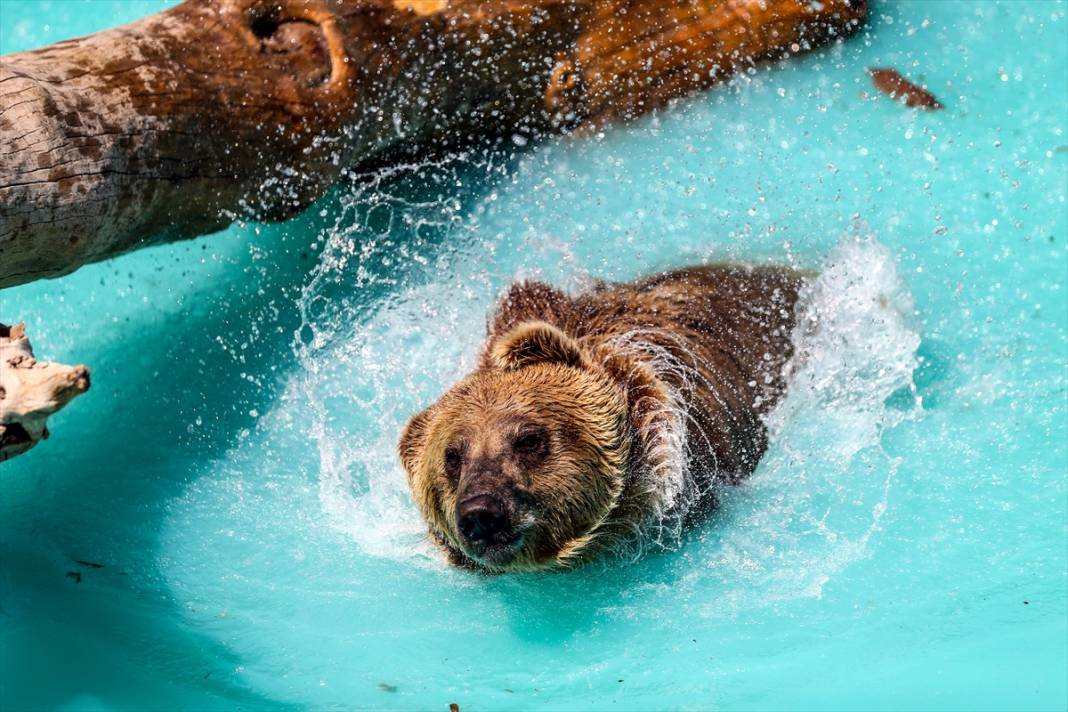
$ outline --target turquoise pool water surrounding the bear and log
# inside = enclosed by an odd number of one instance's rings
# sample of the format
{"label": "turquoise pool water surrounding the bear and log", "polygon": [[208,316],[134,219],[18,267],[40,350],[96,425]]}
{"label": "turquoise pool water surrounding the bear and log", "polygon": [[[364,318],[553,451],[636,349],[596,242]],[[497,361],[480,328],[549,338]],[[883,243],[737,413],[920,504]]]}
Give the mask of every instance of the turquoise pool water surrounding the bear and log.
{"label": "turquoise pool water surrounding the bear and log", "polygon": [[[163,4],[0,0],[0,49]],[[1064,3],[886,0],[632,126],[4,291],[94,380],[0,472],[0,707],[1064,710],[1066,112]],[[822,268],[752,480],[638,561],[446,569],[394,443],[494,296],[706,258]]]}

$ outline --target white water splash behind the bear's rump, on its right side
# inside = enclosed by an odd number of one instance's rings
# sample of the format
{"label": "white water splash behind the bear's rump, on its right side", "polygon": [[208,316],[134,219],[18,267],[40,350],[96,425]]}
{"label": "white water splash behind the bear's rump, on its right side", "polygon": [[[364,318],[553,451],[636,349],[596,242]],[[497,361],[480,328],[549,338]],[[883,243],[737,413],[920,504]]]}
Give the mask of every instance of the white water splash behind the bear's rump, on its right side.
{"label": "white water splash behind the bear's rump, on its right side", "polygon": [[[769,414],[771,442],[754,476],[724,499],[709,559],[727,599],[820,596],[866,555],[889,506],[898,460],[882,433],[922,413],[888,399],[915,394],[920,334],[890,251],[849,238],[799,300],[786,397]],[[723,606],[710,606],[720,612]]]}

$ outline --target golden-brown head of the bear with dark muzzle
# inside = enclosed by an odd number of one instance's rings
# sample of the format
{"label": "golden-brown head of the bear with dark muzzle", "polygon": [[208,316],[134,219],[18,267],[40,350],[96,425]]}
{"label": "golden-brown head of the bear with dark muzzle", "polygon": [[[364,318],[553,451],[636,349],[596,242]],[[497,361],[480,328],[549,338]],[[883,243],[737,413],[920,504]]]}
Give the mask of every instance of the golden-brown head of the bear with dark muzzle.
{"label": "golden-brown head of the bear with dark muzzle", "polygon": [[430,532],[489,570],[564,565],[623,491],[627,405],[579,345],[544,322],[408,423],[400,459]]}

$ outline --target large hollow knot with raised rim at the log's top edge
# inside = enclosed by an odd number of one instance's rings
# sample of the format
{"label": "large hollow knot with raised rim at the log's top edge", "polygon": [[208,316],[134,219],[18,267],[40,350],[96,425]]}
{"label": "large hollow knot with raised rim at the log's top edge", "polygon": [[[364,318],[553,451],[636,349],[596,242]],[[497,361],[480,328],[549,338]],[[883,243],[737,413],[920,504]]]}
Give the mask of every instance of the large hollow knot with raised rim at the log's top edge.
{"label": "large hollow knot with raised rim at the log's top edge", "polygon": [[325,85],[336,73],[321,17],[288,12],[285,3],[260,2],[249,9],[249,30],[262,53],[279,57],[303,86]]}

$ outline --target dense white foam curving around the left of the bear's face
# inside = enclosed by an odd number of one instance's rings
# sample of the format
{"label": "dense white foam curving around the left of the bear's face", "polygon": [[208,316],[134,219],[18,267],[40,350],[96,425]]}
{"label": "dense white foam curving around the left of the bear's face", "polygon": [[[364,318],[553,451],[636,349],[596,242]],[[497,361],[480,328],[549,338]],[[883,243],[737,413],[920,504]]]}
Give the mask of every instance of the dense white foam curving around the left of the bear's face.
{"label": "dense white foam curving around the left of the bear's face", "polygon": [[[351,343],[324,354],[332,360],[326,385],[342,402],[320,408],[314,433],[319,499],[332,524],[375,556],[437,558],[396,447],[407,417],[429,405],[443,377],[459,377],[473,362],[484,320],[450,297],[446,285],[412,288],[355,325]],[[349,394],[344,371],[354,381]],[[310,384],[311,397],[320,397],[318,385]]]}

